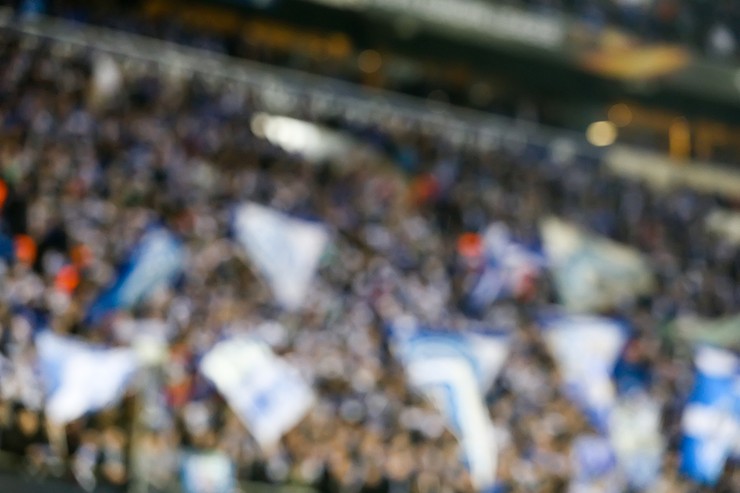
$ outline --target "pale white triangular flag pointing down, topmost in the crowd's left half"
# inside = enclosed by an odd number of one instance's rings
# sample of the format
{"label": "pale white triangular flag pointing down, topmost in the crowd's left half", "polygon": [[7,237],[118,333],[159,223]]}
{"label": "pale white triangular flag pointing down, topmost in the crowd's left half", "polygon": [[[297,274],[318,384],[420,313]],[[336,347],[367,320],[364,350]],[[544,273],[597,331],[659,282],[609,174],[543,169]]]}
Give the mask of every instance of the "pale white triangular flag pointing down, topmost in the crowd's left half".
{"label": "pale white triangular flag pointing down, topmost in the crowd's left half", "polygon": [[249,203],[237,208],[234,233],[283,308],[300,308],[329,241],[326,228]]}

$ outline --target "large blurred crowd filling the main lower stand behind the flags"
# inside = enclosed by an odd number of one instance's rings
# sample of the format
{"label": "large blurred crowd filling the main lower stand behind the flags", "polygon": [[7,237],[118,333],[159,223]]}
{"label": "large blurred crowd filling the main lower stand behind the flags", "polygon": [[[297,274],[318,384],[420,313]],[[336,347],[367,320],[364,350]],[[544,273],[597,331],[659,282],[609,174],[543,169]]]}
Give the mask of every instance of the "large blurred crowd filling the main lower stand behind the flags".
{"label": "large blurred crowd filling the main lower stand behind the flags", "polygon": [[[180,450],[215,448],[241,478],[327,493],[472,491],[455,437],[389,350],[385,325],[412,314],[455,330],[516,327],[487,396],[497,491],[623,491],[618,478],[575,486],[574,441],[589,425],[559,391],[534,321],[557,299],[547,276],[519,299],[475,312],[467,303],[478,273],[458,254],[458,236],[501,221],[533,244],[538,219],[556,214],[651,259],[655,293],[609,313],[634,327],[623,360],[662,406],[668,451],[650,491],[709,491],[677,470],[692,370],[657,328],[681,313],[730,314],[740,301],[740,254],[702,229],[712,207],[731,204],[687,190],[655,195],[596,162],[555,161],[542,149],[455,146],[400,117],[382,127],[319,121],[375,152],[310,162],[252,133],[262,108],[243,87],[124,72],[122,90],[93,105],[93,58],[0,36],[0,449],[15,467],[90,490],[122,490],[135,471],[164,492]],[[300,104],[292,116],[317,120]],[[297,314],[275,306],[229,239],[230,207],[247,200],[336,231]],[[184,242],[182,279],[86,324],[86,308],[152,223]],[[129,395],[62,430],[47,426],[33,345],[44,327],[110,345],[161,331],[168,357],[152,377],[161,385],[143,410]],[[257,447],[196,371],[215,341],[242,333],[264,338],[319,394],[272,450]],[[712,491],[736,491],[739,474],[728,465]]]}

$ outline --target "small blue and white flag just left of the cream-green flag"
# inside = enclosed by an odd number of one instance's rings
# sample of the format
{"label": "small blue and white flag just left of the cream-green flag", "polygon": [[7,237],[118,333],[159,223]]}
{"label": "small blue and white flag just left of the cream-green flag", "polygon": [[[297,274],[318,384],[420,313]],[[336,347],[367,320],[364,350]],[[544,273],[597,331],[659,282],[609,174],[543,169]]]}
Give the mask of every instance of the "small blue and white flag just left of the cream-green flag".
{"label": "small blue and white flag just left of the cream-green flag", "polygon": [[471,303],[480,308],[498,299],[519,296],[539,275],[544,256],[514,241],[503,223],[488,227],[483,237],[485,268],[470,291]]}

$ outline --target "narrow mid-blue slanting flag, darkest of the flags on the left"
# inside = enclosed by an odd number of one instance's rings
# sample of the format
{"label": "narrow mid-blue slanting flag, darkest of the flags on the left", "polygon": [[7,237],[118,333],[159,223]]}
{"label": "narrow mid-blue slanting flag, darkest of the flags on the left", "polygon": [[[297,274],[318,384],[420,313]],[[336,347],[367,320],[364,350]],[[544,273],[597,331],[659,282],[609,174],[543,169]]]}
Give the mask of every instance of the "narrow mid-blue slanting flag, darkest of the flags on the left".
{"label": "narrow mid-blue slanting flag, darkest of the flags on the left", "polygon": [[154,228],[142,236],[118,277],[93,303],[88,319],[95,323],[108,312],[130,308],[157,289],[172,284],[182,272],[185,251],[175,236]]}

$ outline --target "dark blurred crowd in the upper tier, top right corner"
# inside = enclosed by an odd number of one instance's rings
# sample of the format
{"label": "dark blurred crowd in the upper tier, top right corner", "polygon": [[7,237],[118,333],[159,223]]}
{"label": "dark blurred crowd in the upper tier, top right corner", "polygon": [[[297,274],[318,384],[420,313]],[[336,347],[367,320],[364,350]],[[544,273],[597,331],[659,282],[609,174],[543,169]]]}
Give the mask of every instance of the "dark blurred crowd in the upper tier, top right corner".
{"label": "dark blurred crowd in the upper tier, top right corner", "polygon": [[489,0],[539,13],[565,12],[594,28],[619,26],[652,41],[685,43],[733,58],[740,40],[740,5],[733,0]]}

